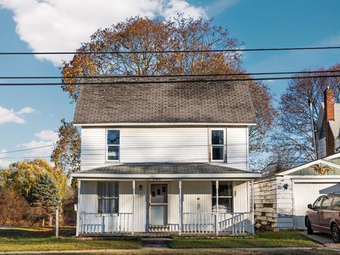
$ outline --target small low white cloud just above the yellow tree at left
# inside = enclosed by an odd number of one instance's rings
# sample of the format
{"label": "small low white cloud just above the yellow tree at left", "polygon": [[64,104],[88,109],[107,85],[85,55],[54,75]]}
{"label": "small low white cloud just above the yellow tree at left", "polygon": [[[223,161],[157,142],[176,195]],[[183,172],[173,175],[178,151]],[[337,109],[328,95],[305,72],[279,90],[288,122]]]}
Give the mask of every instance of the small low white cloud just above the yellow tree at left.
{"label": "small low white cloud just above the yellow tree at left", "polygon": [[26,157],[45,157],[50,156],[53,151],[53,145],[58,140],[58,135],[52,130],[42,130],[34,134],[35,137],[40,138],[40,140],[31,140],[30,142],[24,142],[16,147],[21,147],[23,149],[30,149],[35,147],[43,147],[39,149],[33,149],[25,153]]}

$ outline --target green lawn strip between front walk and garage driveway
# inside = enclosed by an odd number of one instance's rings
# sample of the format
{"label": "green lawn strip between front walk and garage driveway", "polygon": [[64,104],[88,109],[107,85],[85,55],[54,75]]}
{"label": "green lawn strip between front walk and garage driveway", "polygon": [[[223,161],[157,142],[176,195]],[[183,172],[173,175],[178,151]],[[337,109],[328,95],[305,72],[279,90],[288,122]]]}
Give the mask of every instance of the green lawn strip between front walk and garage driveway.
{"label": "green lawn strip between front walk and garage driveway", "polygon": [[317,247],[318,244],[296,231],[260,232],[255,237],[225,237],[198,239],[175,237],[173,249],[191,248],[246,248],[246,247]]}

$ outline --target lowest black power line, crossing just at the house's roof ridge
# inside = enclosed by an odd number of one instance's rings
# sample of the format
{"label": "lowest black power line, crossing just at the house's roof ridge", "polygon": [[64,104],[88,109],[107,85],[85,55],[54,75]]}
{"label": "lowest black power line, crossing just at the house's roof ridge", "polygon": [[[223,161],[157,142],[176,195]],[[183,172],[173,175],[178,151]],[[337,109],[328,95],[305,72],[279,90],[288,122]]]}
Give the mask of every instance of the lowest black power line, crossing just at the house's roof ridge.
{"label": "lowest black power line, crossing just at the house's roof ridge", "polygon": [[114,85],[114,84],[168,84],[168,83],[188,83],[188,82],[223,82],[223,81],[268,81],[283,79],[313,79],[313,78],[330,78],[340,77],[340,75],[315,75],[306,77],[263,77],[263,78],[244,78],[244,79],[202,79],[202,80],[177,80],[177,81],[111,81],[111,82],[79,82],[79,83],[5,83],[0,86],[62,86],[62,85]]}

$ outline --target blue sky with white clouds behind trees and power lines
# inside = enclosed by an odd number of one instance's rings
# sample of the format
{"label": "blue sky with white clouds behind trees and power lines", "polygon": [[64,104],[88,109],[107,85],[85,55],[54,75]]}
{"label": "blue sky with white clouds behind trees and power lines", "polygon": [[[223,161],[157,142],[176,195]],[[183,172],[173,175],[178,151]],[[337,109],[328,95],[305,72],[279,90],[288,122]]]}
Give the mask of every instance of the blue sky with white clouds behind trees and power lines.
{"label": "blue sky with white clouds behind trees and power lines", "polygon": [[[105,0],[0,0],[0,7],[0,51],[72,51],[89,40],[96,28],[136,14],[166,17],[177,11],[214,18],[246,48],[340,46],[340,1],[336,0],[126,0],[119,6]],[[243,57],[249,72],[299,71],[339,62],[340,50],[246,52]],[[59,63],[60,56],[0,56],[0,77],[57,76]],[[266,83],[279,98],[288,81]],[[74,107],[58,86],[0,87],[0,151],[52,144],[60,119],[72,120]],[[0,166],[50,152],[45,148],[0,154]]]}

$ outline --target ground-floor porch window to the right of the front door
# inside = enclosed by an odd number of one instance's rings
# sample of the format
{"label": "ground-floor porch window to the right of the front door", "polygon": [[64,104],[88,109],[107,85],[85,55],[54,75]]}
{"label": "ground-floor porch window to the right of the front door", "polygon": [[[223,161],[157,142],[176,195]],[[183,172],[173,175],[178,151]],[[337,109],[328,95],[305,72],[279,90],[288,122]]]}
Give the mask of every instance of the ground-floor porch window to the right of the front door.
{"label": "ground-floor porch window to the right of the front door", "polygon": [[[216,212],[216,183],[212,183],[212,211]],[[218,212],[232,212],[232,181],[218,183]]]}

